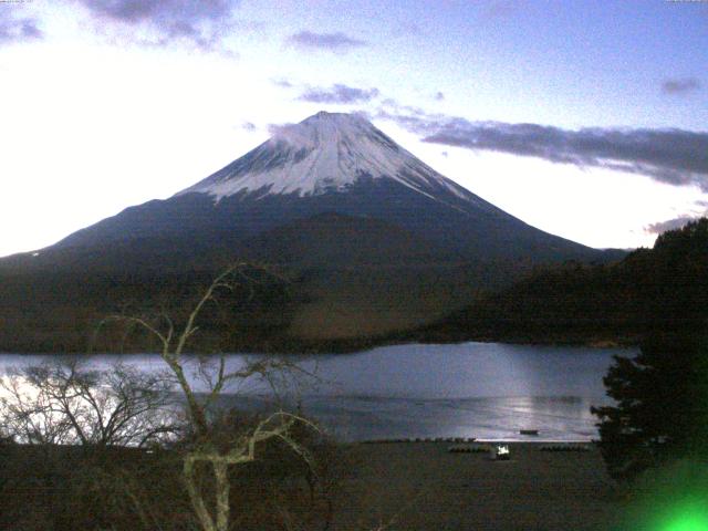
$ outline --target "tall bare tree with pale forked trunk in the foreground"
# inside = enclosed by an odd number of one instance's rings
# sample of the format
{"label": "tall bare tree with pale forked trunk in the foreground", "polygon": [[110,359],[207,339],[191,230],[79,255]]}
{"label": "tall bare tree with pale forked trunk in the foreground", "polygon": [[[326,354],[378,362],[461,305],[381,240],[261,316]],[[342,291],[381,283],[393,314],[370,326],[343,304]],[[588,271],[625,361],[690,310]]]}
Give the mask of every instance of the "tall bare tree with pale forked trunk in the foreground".
{"label": "tall bare tree with pale forked trunk in the foreground", "polygon": [[[139,316],[113,315],[119,321],[138,326],[157,339],[160,356],[171,372],[176,385],[185,398],[191,437],[183,455],[183,477],[192,510],[204,531],[227,531],[231,527],[229,470],[231,467],[254,461],[260,444],[279,439],[303,459],[310,460],[305,448],[292,436],[291,429],[300,424],[314,427],[300,415],[277,410],[251,426],[231,429],[225,417],[216,410],[221,394],[230,384],[260,378],[272,382],[277,375],[293,369],[282,360],[257,360],[235,371],[227,369],[223,355],[216,364],[199,364],[199,375],[207,384],[205,393],[198,393],[186,374],[185,350],[199,330],[198,317],[207,304],[218,303],[217,295],[244,288],[252,293],[256,280],[249,274],[249,266],[239,263],[219,274],[196,302],[186,322],[176,326],[167,315],[150,320]],[[316,428],[315,428],[316,429]],[[200,470],[208,470],[205,485]]]}

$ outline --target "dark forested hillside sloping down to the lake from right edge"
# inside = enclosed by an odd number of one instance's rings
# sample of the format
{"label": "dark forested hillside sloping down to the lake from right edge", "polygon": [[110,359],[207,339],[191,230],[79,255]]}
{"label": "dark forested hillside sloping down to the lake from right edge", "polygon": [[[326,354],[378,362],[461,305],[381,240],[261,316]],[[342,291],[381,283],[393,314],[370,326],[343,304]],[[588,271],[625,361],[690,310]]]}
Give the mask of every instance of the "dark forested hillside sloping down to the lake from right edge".
{"label": "dark forested hillside sloping down to the lake from right edge", "polygon": [[708,314],[708,219],[659,236],[612,264],[569,262],[418,331],[425,341],[635,344]]}

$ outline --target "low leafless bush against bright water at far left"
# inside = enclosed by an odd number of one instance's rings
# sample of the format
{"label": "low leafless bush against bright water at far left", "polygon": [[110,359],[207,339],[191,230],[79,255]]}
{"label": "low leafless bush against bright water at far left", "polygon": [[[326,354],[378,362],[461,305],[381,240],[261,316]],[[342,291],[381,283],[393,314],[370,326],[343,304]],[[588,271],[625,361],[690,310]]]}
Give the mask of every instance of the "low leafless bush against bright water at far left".
{"label": "low leafless bush against bright water at far left", "polygon": [[177,429],[170,382],[122,363],[56,358],[0,378],[4,435],[24,444],[143,447]]}

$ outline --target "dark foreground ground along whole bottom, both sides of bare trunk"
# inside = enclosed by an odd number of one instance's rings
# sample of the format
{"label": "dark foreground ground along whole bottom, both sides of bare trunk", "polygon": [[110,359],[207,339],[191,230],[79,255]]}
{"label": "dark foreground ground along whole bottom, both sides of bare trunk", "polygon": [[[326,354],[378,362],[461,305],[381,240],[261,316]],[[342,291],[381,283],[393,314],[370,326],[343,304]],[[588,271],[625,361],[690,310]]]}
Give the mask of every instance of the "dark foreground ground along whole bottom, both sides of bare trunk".
{"label": "dark foreground ground along whole bottom, both sides of bare trunk", "polygon": [[[320,485],[330,485],[325,490],[332,496],[315,498],[308,489],[303,476],[308,467],[302,460],[280,447],[266,447],[262,460],[233,471],[235,529],[648,529],[612,525],[623,502],[593,447],[585,452],[546,452],[541,451],[543,444],[517,442],[510,445],[511,460],[494,461],[488,451],[451,454],[450,446],[321,447],[314,452],[329,465],[320,468],[325,481]],[[2,530],[196,529],[190,525],[192,510],[181,483],[178,455],[18,445],[0,446],[0,450]],[[136,500],[149,513],[136,512]]]}

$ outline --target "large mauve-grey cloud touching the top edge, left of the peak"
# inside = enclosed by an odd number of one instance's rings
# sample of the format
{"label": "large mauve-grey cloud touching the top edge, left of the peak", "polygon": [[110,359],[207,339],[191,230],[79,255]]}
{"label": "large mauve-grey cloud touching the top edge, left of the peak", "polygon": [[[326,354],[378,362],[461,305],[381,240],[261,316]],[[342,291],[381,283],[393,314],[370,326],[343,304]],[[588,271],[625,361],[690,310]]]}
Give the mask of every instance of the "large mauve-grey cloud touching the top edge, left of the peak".
{"label": "large mauve-grey cloud touching the top edge, left of the peak", "polygon": [[[102,30],[119,28],[121,35],[140,44],[186,42],[204,51],[232,54],[223,39],[232,29],[237,0],[76,0]],[[127,32],[125,31],[127,30]]]}

